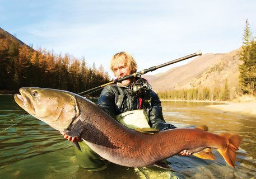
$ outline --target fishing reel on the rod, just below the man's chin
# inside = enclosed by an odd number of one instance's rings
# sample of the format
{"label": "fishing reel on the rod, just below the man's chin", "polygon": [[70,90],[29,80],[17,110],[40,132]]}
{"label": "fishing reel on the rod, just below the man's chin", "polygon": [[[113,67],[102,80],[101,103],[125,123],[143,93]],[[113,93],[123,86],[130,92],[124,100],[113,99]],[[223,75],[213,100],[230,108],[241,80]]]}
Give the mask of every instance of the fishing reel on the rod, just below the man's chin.
{"label": "fishing reel on the rod, just below the man's chin", "polygon": [[152,89],[151,85],[139,76],[139,79],[132,83],[129,95],[131,96],[142,96]]}

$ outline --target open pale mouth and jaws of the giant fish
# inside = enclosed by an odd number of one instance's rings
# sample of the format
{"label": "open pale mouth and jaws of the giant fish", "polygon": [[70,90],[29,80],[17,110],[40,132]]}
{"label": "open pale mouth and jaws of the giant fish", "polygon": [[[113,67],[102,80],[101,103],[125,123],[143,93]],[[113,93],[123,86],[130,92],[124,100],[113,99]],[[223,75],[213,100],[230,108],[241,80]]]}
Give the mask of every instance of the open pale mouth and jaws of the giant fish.
{"label": "open pale mouth and jaws of the giant fish", "polygon": [[29,112],[31,115],[35,115],[35,108],[34,105],[28,95],[25,93],[22,93],[22,90],[20,90],[21,95],[15,94],[14,100],[25,111]]}

